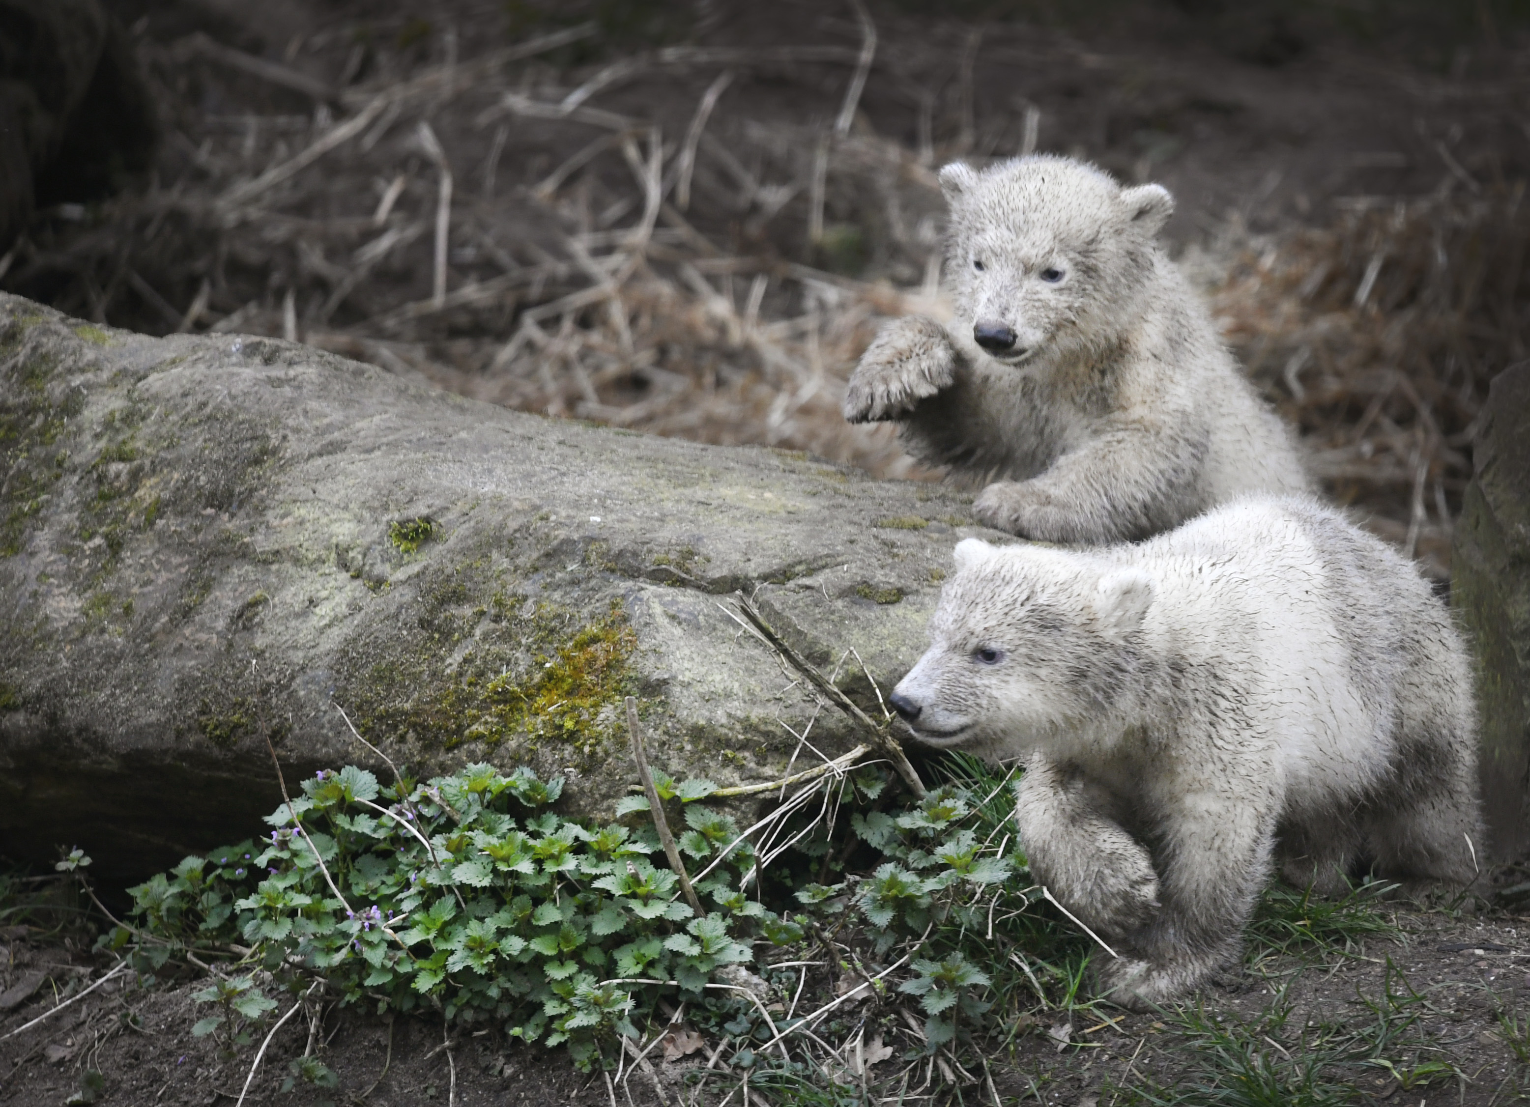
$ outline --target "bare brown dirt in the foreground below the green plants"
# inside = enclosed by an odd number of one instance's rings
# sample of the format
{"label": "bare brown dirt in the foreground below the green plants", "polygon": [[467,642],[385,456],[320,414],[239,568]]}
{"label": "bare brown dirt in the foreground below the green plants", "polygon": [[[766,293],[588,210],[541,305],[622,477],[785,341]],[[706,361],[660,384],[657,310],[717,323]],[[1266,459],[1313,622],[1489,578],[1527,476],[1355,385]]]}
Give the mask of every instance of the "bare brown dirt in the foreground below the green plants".
{"label": "bare brown dirt in the foreground below the green plants", "polygon": [[[1411,1064],[1394,1066],[1392,1072],[1365,1064],[1342,1067],[1328,1075],[1353,1086],[1353,1093],[1330,1099],[1291,1096],[1291,1102],[1414,1107],[1426,1101],[1487,1105],[1524,1098],[1530,1093],[1530,1067],[1524,1060],[1530,1053],[1525,1037],[1530,917],[1437,911],[1398,913],[1397,922],[1403,930],[1400,940],[1366,940],[1348,956],[1308,950],[1304,956],[1270,956],[1229,968],[1196,1003],[1209,1015],[1256,1024],[1271,1060],[1274,1052],[1302,1058],[1304,1049],[1316,1050],[1356,1034],[1382,1040],[1385,1031],[1409,1043],[1405,1050],[1391,1049],[1388,1057],[1408,1055]],[[31,986],[38,979],[41,983],[31,1000],[11,1008],[0,1021],[0,1034],[9,1035],[44,1014],[54,1005],[54,988],[66,988],[78,974],[92,972],[93,965],[90,957],[66,946],[8,931],[0,985],[9,989]],[[203,983],[162,982],[144,989],[129,972],[35,1029],[0,1038],[0,1102],[61,1104],[80,1092],[89,1070],[104,1078],[101,1102],[213,1107],[236,1101],[249,1076],[254,1046],[222,1058],[213,1038],[191,1037],[191,1024],[207,1014],[191,1001]],[[1278,1026],[1259,1024],[1282,988],[1288,988],[1284,997],[1290,1000],[1288,1015]],[[12,994],[0,995],[0,1005]],[[278,1012],[289,1005],[285,1000]],[[866,1005],[860,1017],[875,1018],[877,1001]],[[1184,1029],[1166,1018],[1105,1006],[1073,1012],[1037,1009],[1034,1024],[1017,1035],[1013,1052],[993,1060],[993,1090],[1004,1102],[1069,1107],[1132,1102],[1123,1089],[1154,1083],[1183,1092],[1196,1083],[1196,1055]],[[1518,1020],[1516,1046],[1506,1037],[1502,1018]],[[560,1053],[506,1044],[494,1031],[453,1038],[450,1060],[442,1044],[441,1023],[428,1018],[384,1023],[364,1011],[335,1008],[323,1009],[315,1021],[298,1015],[271,1041],[246,1102],[407,1107],[447,1104],[454,1095],[464,1107],[522,1102],[597,1107],[612,1102],[615,1090],[617,1102],[627,1102],[630,1095],[632,1102],[653,1104],[659,1102],[655,1079],[664,1102],[693,1102],[695,1084],[685,1073],[705,1069],[715,1047],[708,1041],[690,1057],[669,1063],[656,1052],[653,1075],[640,1070],[623,1087],[607,1089],[603,1076],[577,1073]],[[282,1083],[291,1075],[294,1060],[306,1050],[323,1058],[338,1084],[298,1083],[283,1093]],[[1431,1063],[1450,1067],[1429,1070]],[[874,1066],[872,1079],[894,1066],[903,1063],[889,1058]],[[727,1070],[727,1058],[722,1069]],[[737,1073],[733,1076],[728,1083],[736,1084]],[[707,1086],[696,1102],[716,1104],[725,1087],[721,1081]],[[936,1090],[933,1102],[991,1102],[991,1093],[982,1087],[967,1087],[967,1099],[950,1086]],[[877,1093],[881,1096],[887,1096],[884,1102],[897,1102],[898,1087],[883,1087]],[[754,1099],[793,1102],[757,1092]],[[906,1092],[904,1101],[930,1102],[927,1093],[916,1090]],[[846,1096],[840,1102],[857,1099]]]}

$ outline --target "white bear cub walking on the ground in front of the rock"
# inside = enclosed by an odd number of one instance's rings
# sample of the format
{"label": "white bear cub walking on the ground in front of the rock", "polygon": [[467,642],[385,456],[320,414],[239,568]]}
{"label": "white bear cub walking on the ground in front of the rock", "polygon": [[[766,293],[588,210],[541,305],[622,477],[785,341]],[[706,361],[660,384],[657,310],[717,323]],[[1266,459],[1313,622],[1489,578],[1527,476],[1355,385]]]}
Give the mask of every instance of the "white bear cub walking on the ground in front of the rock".
{"label": "white bear cub walking on the ground in front of the rock", "polygon": [[1031,876],[1143,1006],[1232,957],[1270,873],[1466,884],[1481,847],[1461,638],[1417,570],[1308,498],[1137,546],[956,546],[890,703],[932,746],[1025,758]]}

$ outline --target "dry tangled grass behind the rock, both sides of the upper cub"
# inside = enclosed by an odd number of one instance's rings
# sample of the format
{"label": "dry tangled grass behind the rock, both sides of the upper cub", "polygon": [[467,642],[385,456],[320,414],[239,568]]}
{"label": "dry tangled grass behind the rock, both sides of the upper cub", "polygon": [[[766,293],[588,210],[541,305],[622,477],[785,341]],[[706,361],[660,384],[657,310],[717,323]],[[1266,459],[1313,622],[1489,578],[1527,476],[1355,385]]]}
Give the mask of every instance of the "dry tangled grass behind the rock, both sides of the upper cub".
{"label": "dry tangled grass behind the rock, both sides of the upper cub", "polygon": [[[586,66],[554,61],[589,28],[462,61],[451,40],[430,63],[379,54],[343,92],[202,37],[144,41],[185,171],[44,213],[0,278],[98,321],[278,335],[520,410],[935,477],[840,399],[880,323],[944,312],[932,170],[999,136],[973,122],[976,40],[955,80],[921,84],[855,11],[845,44]],[[857,113],[874,70],[916,106],[913,147]],[[208,113],[226,72],[312,113]],[[800,84],[819,121],[730,98],[745,72]],[[643,118],[592,104],[655,76],[701,92]],[[1016,116],[1017,148],[1036,121]],[[1519,190],[1452,165],[1427,199],[1276,237],[1229,225],[1200,255],[1328,489],[1437,576],[1487,381],[1525,344]]]}

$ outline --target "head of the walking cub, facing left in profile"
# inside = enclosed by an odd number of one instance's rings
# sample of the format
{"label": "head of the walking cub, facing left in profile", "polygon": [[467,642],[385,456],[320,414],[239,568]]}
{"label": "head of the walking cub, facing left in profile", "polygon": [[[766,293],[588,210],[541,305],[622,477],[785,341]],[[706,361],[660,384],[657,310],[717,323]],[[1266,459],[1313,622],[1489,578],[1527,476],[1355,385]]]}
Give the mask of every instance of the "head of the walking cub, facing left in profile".
{"label": "head of the walking cub, facing left in profile", "polygon": [[1118,732],[1157,586],[1137,567],[1043,546],[956,546],[930,648],[889,703],[930,746],[1016,755]]}

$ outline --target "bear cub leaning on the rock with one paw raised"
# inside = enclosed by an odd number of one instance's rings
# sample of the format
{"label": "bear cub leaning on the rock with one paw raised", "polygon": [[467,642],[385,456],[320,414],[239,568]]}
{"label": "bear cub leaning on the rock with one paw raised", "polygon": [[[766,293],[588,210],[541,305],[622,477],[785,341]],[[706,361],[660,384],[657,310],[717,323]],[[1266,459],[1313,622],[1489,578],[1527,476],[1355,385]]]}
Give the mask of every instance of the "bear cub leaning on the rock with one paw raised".
{"label": "bear cub leaning on the rock with one paw raised", "polygon": [[1053,156],[939,179],[955,318],[887,324],[846,419],[898,420],[920,459],[1001,477],[978,518],[1047,541],[1146,538],[1239,494],[1308,491],[1158,246],[1167,191]]}

